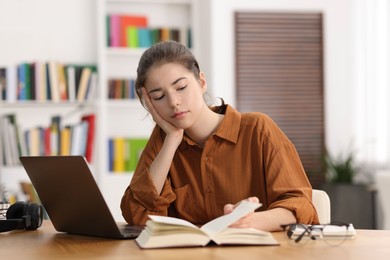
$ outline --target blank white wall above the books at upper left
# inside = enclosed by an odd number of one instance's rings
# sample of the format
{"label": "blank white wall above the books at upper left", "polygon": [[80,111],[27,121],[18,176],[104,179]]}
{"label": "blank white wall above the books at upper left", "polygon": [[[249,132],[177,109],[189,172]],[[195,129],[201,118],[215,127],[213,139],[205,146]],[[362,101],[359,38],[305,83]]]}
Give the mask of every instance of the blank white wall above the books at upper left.
{"label": "blank white wall above the books at upper left", "polygon": [[96,63],[95,0],[0,0],[0,65]]}

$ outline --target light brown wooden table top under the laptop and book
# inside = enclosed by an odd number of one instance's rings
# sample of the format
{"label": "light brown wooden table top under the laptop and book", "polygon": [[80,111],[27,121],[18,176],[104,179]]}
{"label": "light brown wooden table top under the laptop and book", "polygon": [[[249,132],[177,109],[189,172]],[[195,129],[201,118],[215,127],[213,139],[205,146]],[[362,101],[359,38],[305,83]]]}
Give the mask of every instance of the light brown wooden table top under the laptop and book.
{"label": "light brown wooden table top under the laptop and book", "polygon": [[1,259],[390,259],[390,230],[357,230],[338,247],[313,241],[291,246],[282,232],[273,233],[280,246],[208,246],[140,249],[134,240],[112,240],[58,233],[44,221],[36,231],[0,233]]}

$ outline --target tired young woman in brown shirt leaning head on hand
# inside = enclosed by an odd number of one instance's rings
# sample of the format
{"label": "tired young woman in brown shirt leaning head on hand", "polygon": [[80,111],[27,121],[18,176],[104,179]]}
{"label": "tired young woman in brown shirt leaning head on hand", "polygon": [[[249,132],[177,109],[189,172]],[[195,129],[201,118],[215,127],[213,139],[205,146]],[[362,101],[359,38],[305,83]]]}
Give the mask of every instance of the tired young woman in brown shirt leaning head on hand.
{"label": "tired young woman in brown shirt leaning head on hand", "polygon": [[262,113],[241,114],[223,101],[209,107],[205,75],[185,46],[146,50],[135,88],[156,126],[122,198],[129,224],[144,225],[153,214],[202,225],[244,199],[263,206],[233,227],[318,223],[294,145]]}

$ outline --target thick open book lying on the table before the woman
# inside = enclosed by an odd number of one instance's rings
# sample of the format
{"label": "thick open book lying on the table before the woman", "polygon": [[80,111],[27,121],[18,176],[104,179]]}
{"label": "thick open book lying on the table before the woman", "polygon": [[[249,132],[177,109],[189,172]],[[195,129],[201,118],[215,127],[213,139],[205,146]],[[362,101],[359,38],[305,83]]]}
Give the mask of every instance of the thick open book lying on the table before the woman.
{"label": "thick open book lying on the table before the woman", "polygon": [[211,241],[218,245],[279,245],[270,232],[229,228],[260,206],[260,203],[244,200],[230,214],[200,228],[183,219],[149,215],[150,220],[136,241],[141,248],[206,246]]}

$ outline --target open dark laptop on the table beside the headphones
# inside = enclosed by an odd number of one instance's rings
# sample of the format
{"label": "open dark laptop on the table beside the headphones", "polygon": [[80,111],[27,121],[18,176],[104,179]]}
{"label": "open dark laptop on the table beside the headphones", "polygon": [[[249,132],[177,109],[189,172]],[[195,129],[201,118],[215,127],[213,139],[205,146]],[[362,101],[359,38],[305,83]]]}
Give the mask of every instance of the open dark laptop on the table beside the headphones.
{"label": "open dark laptop on the table beside the headphones", "polygon": [[114,239],[136,238],[142,231],[115,222],[83,156],[22,156],[20,161],[57,231]]}

